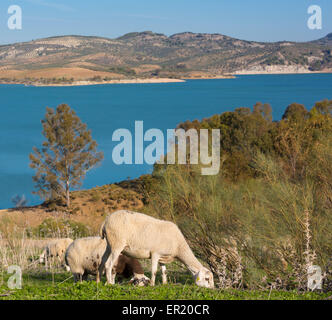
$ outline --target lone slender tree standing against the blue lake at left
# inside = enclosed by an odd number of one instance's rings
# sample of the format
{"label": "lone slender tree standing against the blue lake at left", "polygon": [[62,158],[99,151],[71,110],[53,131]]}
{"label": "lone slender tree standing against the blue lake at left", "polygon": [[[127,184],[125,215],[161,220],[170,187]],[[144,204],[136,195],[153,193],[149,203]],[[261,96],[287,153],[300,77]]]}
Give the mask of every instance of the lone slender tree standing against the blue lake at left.
{"label": "lone slender tree standing against the blue lake at left", "polygon": [[68,105],[61,104],[56,111],[46,108],[41,122],[46,141],[41,150],[34,147],[30,154],[30,167],[36,170],[33,181],[37,191],[33,193],[47,200],[64,197],[69,208],[71,188],[82,184],[103,153],[96,151],[91,131]]}

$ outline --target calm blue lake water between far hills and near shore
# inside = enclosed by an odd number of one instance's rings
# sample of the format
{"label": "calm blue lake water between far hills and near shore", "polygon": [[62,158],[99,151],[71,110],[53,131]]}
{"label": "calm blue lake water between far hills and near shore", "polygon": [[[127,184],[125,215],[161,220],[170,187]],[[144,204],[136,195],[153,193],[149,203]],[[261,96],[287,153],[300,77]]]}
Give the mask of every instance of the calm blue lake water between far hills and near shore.
{"label": "calm blue lake water between far hills and near shore", "polygon": [[279,120],[293,102],[310,109],[316,101],[332,99],[332,74],[256,75],[236,79],[191,80],[170,84],[121,84],[80,87],[25,87],[0,85],[0,209],[12,206],[15,195],[25,195],[29,205],[33,170],[29,153],[43,141],[40,120],[45,108],[69,104],[87,123],[104,152],[103,163],[91,170],[83,188],[118,182],[149,173],[149,165],[117,166],[112,161],[112,134],[118,128],[134,132],[135,120],[144,130],[164,131],[185,120],[202,119],[256,102],[272,105]]}

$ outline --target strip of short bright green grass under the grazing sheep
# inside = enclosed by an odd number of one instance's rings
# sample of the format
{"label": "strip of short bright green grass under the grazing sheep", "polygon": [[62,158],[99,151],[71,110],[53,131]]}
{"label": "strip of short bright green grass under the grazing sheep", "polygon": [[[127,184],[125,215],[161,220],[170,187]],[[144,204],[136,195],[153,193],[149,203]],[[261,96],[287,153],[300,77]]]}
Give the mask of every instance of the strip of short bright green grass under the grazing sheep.
{"label": "strip of short bright green grass under the grazing sheep", "polygon": [[[26,273],[22,289],[9,290],[8,276],[0,276],[0,300],[324,300],[331,293],[298,293],[295,291],[254,291],[204,289],[195,286],[182,274],[185,284],[158,284],[134,287],[129,284],[97,285],[95,281],[74,283],[70,273]],[[2,279],[2,281],[1,281]],[[159,283],[160,283],[160,279]]]}

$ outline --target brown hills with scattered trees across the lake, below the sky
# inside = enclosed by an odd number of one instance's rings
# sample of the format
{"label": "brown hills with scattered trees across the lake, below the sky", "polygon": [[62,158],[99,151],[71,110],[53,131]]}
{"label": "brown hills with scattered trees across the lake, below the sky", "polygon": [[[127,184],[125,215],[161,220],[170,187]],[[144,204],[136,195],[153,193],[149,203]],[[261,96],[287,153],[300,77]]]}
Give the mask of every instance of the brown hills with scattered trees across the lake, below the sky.
{"label": "brown hills with scattered trees across the lake, below the sky", "polygon": [[0,46],[1,82],[72,83],[209,78],[241,73],[330,72],[332,33],[305,43],[262,43],[221,34],[151,31],[117,39],[61,36]]}

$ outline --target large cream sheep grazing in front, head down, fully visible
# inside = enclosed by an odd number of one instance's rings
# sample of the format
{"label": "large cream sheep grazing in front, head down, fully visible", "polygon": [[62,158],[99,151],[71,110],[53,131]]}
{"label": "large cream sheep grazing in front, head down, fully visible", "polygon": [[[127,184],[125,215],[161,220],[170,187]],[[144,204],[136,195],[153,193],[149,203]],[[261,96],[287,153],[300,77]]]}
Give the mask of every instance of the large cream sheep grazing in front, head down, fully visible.
{"label": "large cream sheep grazing in front, head down, fully visible", "polygon": [[167,283],[164,265],[178,259],[192,273],[198,286],[214,288],[213,274],[196,259],[180,229],[172,222],[142,213],[120,210],[109,215],[101,227],[110,249],[100,270],[106,268],[107,284],[114,284],[112,269],[123,254],[137,259],[151,259],[151,281],[155,285],[158,263],[162,264],[163,284]]}

